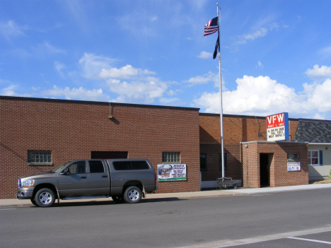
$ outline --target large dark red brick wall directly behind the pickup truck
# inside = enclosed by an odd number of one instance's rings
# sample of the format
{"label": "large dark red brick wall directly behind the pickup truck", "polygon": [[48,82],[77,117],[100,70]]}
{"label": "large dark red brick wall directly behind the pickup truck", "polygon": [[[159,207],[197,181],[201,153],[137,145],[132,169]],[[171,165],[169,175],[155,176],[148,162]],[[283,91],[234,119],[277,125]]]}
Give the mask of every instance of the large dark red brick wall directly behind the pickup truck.
{"label": "large dark red brick wall directly behind the pickup truck", "polygon": [[[105,102],[0,98],[0,199],[13,198],[19,177],[52,170],[91,151],[127,151],[153,167],[162,152],[180,152],[185,182],[158,182],[157,193],[199,191],[198,109]],[[53,166],[30,166],[28,150],[52,150]]]}

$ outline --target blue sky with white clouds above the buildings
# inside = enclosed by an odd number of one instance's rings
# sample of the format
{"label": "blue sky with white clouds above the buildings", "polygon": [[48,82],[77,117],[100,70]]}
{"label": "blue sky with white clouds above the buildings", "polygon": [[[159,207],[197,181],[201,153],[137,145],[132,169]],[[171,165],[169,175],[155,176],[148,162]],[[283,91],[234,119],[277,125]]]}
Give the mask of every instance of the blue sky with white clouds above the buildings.
{"label": "blue sky with white clouds above the buildings", "polygon": [[[0,1],[0,95],[219,113],[217,1]],[[222,0],[224,114],[331,119],[331,1]]]}

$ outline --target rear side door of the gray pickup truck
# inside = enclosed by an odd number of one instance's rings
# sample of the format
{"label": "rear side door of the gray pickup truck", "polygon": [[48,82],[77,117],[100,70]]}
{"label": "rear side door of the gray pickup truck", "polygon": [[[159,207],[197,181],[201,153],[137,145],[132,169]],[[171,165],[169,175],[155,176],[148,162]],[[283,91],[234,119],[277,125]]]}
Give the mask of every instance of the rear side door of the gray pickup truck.
{"label": "rear side door of the gray pickup truck", "polygon": [[108,196],[110,194],[110,177],[103,160],[88,161],[89,196]]}

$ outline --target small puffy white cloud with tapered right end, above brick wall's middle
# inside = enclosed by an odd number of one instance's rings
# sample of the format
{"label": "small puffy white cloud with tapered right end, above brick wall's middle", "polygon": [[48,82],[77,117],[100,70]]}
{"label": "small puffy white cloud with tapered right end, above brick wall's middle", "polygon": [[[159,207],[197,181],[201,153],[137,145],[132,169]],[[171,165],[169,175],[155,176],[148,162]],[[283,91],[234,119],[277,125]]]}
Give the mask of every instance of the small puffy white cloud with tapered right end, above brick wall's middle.
{"label": "small puffy white cloud with tapered right end, above brick wall's middle", "polygon": [[99,76],[100,78],[132,78],[134,76],[139,76],[143,74],[155,74],[155,72],[148,71],[146,69],[137,69],[127,64],[126,66],[122,66],[120,69],[102,69]]}

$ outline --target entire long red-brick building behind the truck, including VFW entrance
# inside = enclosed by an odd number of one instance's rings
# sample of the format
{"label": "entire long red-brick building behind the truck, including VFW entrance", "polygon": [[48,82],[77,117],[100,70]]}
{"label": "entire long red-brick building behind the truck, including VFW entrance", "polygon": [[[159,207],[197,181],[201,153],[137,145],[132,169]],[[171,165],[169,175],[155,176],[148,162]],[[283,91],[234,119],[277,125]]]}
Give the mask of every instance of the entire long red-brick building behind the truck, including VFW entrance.
{"label": "entire long red-brick building behind the truck, including VFW entrance", "polygon": [[[158,182],[157,193],[199,191],[222,174],[219,119],[189,107],[0,96],[0,199],[14,197],[19,177],[83,158],[148,158],[155,170],[182,163],[186,180]],[[289,119],[289,141],[299,123]],[[308,141],[267,142],[265,117],[241,115],[223,115],[223,134],[226,177],[247,187],[308,184]],[[289,154],[300,171],[287,170]]]}

